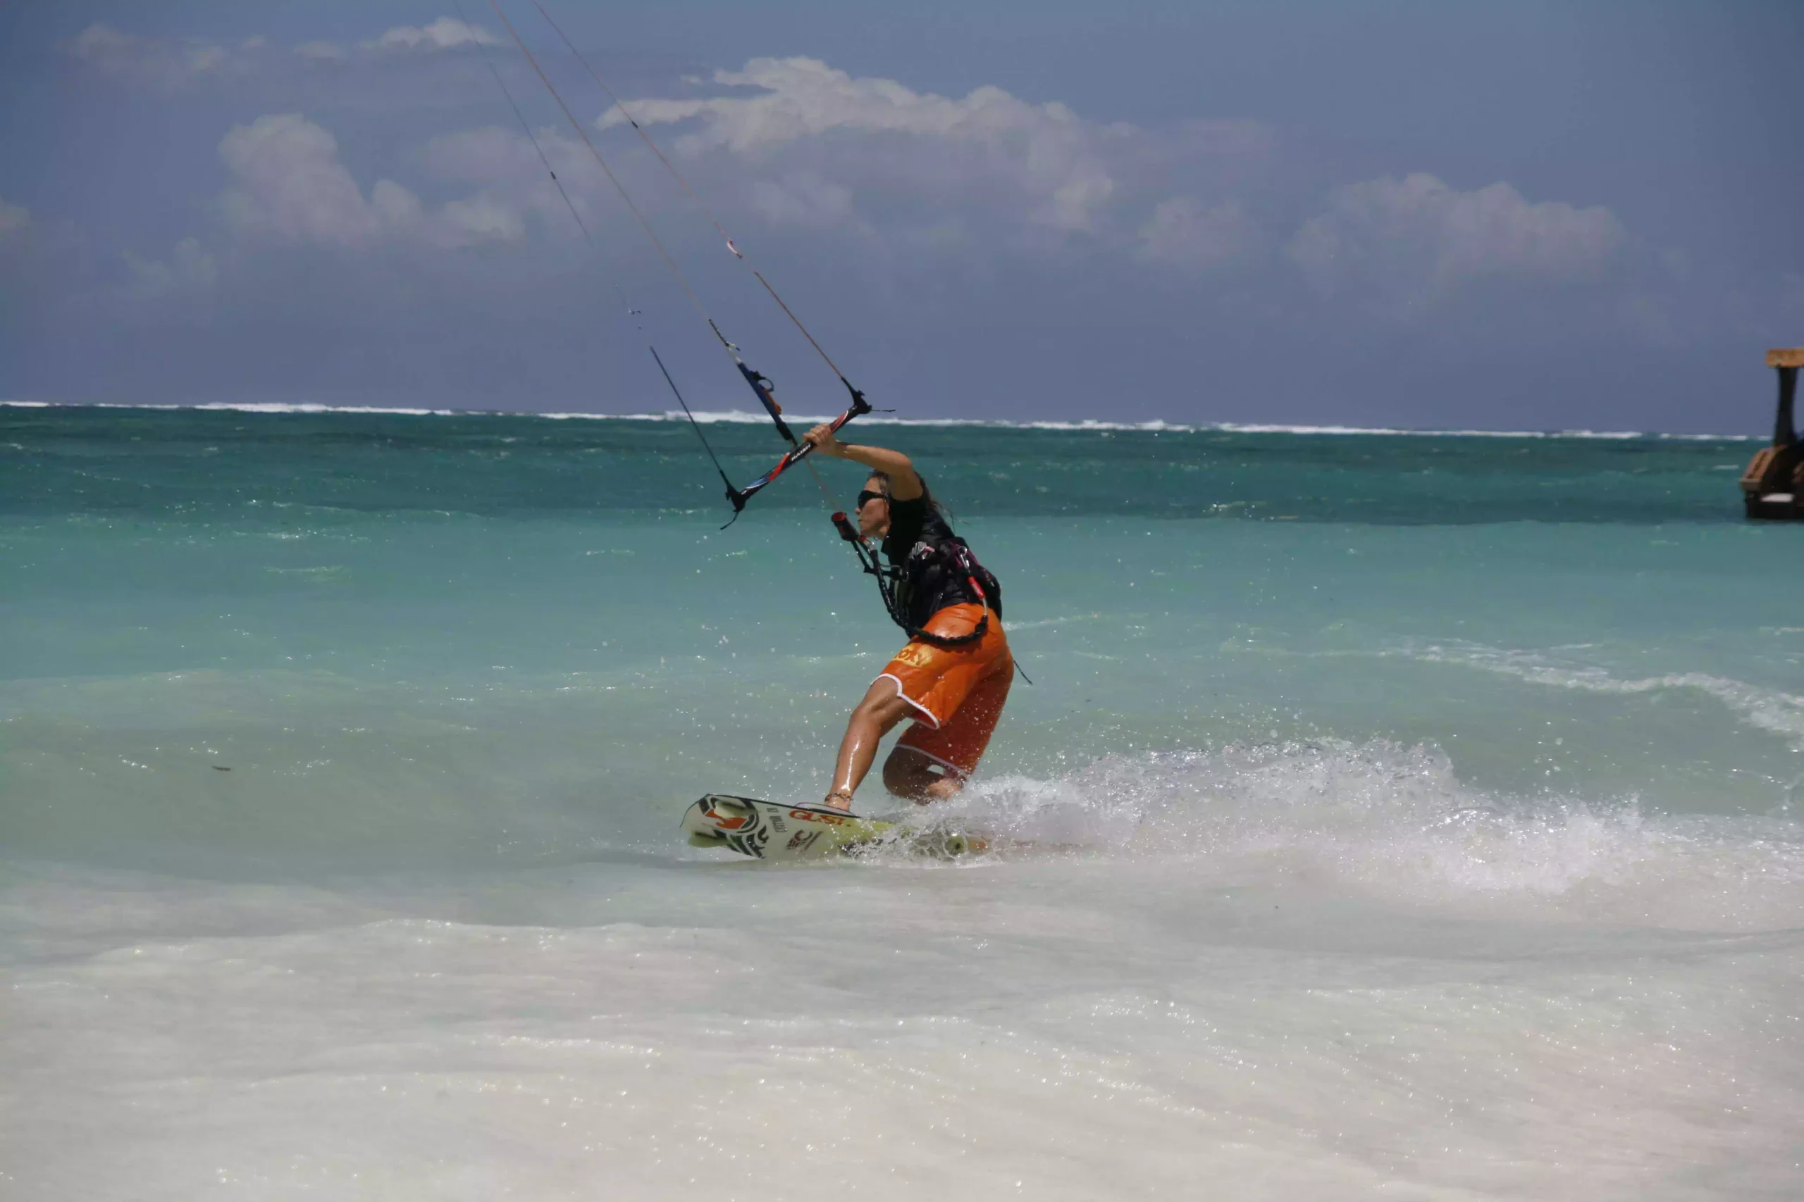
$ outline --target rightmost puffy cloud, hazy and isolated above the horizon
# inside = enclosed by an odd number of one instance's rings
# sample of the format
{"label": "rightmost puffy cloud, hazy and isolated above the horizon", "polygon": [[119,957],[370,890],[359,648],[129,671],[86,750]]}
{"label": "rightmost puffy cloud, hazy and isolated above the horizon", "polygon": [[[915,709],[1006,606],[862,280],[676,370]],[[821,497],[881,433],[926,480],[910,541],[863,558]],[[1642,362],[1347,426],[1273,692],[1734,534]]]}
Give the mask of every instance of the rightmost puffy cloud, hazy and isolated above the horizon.
{"label": "rightmost puffy cloud, hazy and isolated above the horizon", "polygon": [[1286,254],[1322,292],[1411,303],[1479,279],[1595,279],[1627,241],[1604,207],[1530,204],[1508,184],[1461,193],[1416,173],[1337,189]]}

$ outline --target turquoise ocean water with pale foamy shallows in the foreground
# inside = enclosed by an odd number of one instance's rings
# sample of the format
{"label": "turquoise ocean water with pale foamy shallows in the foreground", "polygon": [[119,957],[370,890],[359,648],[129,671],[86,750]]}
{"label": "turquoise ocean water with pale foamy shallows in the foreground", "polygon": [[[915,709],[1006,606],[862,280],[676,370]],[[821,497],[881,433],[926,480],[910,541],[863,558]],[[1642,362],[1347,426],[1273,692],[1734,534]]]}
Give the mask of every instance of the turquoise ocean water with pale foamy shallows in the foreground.
{"label": "turquoise ocean water with pale foamy shallows in the foreground", "polygon": [[945,813],[1014,851],[676,836],[898,647],[806,472],[720,530],[680,422],[0,407],[0,1193],[1797,1197],[1755,443],[857,438],[1005,584]]}

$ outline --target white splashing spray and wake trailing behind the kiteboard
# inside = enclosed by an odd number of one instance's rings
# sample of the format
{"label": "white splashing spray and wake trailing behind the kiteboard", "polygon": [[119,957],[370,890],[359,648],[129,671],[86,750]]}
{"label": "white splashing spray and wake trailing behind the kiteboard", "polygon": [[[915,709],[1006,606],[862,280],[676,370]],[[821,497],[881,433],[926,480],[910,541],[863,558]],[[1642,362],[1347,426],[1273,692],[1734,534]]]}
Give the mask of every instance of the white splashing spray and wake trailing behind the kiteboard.
{"label": "white splashing spray and wake trailing behind the kiteboard", "polygon": [[1800,822],[1492,795],[1440,750],[1384,741],[1115,755],[978,782],[936,818],[996,831],[1005,860],[1182,860],[1221,883],[1351,888],[1463,915],[1683,930],[1804,917]]}

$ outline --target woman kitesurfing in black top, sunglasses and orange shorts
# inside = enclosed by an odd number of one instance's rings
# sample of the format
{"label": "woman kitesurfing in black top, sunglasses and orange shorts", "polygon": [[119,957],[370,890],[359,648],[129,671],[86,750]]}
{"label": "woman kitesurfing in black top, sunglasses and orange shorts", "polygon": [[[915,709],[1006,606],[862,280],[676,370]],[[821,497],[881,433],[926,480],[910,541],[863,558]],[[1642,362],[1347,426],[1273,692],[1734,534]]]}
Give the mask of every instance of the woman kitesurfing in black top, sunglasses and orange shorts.
{"label": "woman kitesurfing in black top, sunglasses and orange shorts", "polygon": [[[877,742],[904,717],[915,724],[884,760],[884,788],[920,804],[949,798],[976,769],[1014,679],[1001,586],[953,533],[906,454],[842,443],[832,423],[805,438],[824,456],[871,470],[857,497],[857,532],[839,514],[835,523],[909,636],[851,710],[824,804],[851,809]],[[888,562],[864,551],[866,539],[880,542]]]}

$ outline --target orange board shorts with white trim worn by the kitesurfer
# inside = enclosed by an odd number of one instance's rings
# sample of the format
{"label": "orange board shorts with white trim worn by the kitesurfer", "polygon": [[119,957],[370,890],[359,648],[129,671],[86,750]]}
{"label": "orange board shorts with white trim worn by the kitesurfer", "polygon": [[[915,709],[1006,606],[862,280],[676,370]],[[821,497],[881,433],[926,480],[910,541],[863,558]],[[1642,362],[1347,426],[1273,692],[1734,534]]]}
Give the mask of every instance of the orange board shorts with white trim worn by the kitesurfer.
{"label": "orange board shorts with white trim worn by the kitesurfer", "polygon": [[[971,634],[983,615],[983,606],[947,606],[927,620],[927,633],[942,638]],[[902,699],[920,714],[897,746],[969,777],[990,744],[1008,699],[1014,656],[1008,654],[1003,622],[992,613],[978,642],[965,647],[911,642],[877,679],[895,681]]]}

